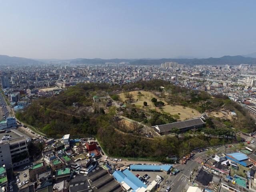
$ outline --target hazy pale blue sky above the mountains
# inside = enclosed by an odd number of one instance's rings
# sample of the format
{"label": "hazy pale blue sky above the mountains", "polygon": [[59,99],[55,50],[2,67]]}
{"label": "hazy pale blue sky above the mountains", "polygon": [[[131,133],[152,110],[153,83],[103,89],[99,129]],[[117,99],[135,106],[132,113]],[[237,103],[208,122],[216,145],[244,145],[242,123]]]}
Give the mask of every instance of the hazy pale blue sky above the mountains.
{"label": "hazy pale blue sky above the mountains", "polygon": [[219,57],[256,52],[255,0],[2,0],[0,54]]}

